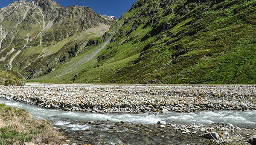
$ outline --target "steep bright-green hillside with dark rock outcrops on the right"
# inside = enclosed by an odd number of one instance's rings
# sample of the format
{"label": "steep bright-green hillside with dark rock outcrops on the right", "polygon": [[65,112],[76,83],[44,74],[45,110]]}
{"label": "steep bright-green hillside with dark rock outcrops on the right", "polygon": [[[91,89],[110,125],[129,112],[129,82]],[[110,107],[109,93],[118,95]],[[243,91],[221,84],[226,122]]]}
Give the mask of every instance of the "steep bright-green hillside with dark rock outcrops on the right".
{"label": "steep bright-green hillside with dark rock outcrops on the right", "polygon": [[256,83],[256,0],[138,0],[110,36],[83,71],[56,80]]}

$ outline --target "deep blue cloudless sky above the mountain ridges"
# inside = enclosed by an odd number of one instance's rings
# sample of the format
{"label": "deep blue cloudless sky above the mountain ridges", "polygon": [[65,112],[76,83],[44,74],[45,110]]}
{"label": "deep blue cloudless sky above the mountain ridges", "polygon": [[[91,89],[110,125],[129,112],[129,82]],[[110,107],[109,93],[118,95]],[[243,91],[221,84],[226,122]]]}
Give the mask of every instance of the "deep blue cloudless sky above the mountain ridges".
{"label": "deep blue cloudless sky above the mountain ridges", "polygon": [[[14,0],[0,0],[0,8],[8,6]],[[19,1],[19,0],[16,0]],[[64,7],[89,6],[96,13],[108,16],[116,16],[118,19],[128,11],[137,0],[55,0]]]}

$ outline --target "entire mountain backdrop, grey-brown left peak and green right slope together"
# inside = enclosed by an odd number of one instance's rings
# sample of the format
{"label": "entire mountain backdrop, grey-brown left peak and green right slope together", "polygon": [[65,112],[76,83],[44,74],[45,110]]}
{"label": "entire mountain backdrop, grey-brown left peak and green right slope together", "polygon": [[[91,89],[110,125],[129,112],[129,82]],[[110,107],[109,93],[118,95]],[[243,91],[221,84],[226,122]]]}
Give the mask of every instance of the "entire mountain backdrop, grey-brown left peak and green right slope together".
{"label": "entire mountain backdrop, grey-brown left peak and green right slope together", "polygon": [[0,66],[35,82],[256,84],[256,0],[138,0],[119,20],[20,0],[0,9]]}

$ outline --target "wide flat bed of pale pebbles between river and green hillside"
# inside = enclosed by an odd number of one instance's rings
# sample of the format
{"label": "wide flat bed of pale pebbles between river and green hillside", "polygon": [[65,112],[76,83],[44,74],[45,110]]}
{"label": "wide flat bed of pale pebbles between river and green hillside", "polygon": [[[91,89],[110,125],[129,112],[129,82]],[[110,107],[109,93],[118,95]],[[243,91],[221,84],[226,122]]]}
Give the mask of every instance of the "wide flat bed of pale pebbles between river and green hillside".
{"label": "wide flat bed of pale pebbles between river and green hillside", "polygon": [[256,85],[1,86],[0,97],[47,109],[95,113],[256,110]]}

